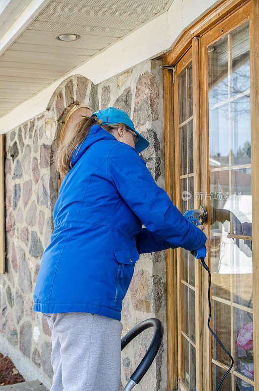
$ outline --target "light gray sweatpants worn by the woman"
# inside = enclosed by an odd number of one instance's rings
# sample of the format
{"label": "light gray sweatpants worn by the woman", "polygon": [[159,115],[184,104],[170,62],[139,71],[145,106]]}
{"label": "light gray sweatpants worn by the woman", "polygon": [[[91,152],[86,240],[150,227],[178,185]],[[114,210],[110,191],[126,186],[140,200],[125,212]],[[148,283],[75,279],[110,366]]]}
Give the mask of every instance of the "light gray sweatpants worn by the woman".
{"label": "light gray sweatpants worn by the woman", "polygon": [[50,391],[119,391],[122,323],[88,312],[43,315],[51,330]]}

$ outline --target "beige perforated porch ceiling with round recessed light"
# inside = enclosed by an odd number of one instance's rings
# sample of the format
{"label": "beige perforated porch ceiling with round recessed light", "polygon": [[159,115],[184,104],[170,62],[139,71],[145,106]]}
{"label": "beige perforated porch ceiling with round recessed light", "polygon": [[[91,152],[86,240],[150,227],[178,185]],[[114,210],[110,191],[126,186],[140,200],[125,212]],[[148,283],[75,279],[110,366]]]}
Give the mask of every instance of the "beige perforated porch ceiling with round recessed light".
{"label": "beige perforated porch ceiling with round recessed light", "polygon": [[[5,0],[10,16],[17,0]],[[35,0],[31,1],[31,4]],[[172,0],[53,0],[24,22],[20,32],[0,29],[0,117],[85,63],[144,22],[164,12]],[[23,3],[28,6],[27,2]],[[39,1],[38,1],[39,3]],[[42,1],[44,3],[44,1]],[[29,4],[30,5],[30,4]],[[9,14],[8,14],[9,9]],[[22,10],[21,10],[22,11]],[[24,8],[24,12],[26,8]],[[14,12],[12,10],[12,12]],[[0,19],[3,12],[0,14]],[[15,19],[15,18],[14,18]],[[13,23],[17,23],[17,16]],[[22,31],[21,31],[22,30]],[[73,42],[56,39],[79,34]]]}

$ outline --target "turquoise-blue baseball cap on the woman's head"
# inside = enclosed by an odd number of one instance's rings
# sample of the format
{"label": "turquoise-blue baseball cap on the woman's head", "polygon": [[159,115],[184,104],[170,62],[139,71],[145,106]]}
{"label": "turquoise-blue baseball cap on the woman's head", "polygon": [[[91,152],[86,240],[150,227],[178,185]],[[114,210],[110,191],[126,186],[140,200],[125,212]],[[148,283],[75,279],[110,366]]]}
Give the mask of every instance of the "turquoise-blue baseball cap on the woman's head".
{"label": "turquoise-blue baseball cap on the woman's head", "polygon": [[126,113],[126,111],[116,109],[115,107],[108,107],[107,109],[95,111],[91,115],[91,117],[93,115],[97,116],[100,125],[117,124],[118,122],[122,122],[123,124],[127,125],[131,130],[135,131],[138,135],[138,140],[135,144],[135,150],[138,153],[142,152],[150,145],[149,141],[145,137],[143,137],[138,131],[135,130],[134,124],[129,118],[129,115]]}

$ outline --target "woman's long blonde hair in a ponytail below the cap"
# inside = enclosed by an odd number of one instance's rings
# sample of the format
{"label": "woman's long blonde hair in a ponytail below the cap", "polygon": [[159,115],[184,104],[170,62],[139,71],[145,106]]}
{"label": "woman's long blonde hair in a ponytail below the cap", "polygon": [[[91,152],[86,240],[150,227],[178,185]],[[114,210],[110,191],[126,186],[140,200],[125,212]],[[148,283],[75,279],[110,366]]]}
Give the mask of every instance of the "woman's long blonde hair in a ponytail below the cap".
{"label": "woman's long blonde hair in a ponytail below the cap", "polygon": [[[83,143],[91,126],[99,125],[112,134],[114,129],[117,129],[120,125],[125,125],[122,122],[116,124],[100,125],[96,115],[93,117],[87,117],[86,115],[80,114],[80,116],[82,118],[69,130],[69,133],[63,137],[53,155],[53,160],[55,161],[57,171],[61,178],[64,178],[64,176],[72,168],[71,156],[77,146],[80,143]],[[127,125],[125,125],[125,128],[126,130],[131,130]]]}

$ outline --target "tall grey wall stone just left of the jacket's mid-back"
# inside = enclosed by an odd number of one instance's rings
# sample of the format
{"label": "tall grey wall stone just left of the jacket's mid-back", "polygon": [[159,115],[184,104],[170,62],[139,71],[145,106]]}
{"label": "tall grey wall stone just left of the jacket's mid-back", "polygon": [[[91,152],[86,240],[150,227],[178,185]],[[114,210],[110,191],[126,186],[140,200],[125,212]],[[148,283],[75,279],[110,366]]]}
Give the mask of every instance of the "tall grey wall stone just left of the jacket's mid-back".
{"label": "tall grey wall stone just left of the jacket's mid-back", "polygon": [[37,191],[37,203],[38,205],[46,206],[53,210],[56,202],[57,191],[54,189],[53,177],[48,174],[44,174],[41,177],[39,188]]}

